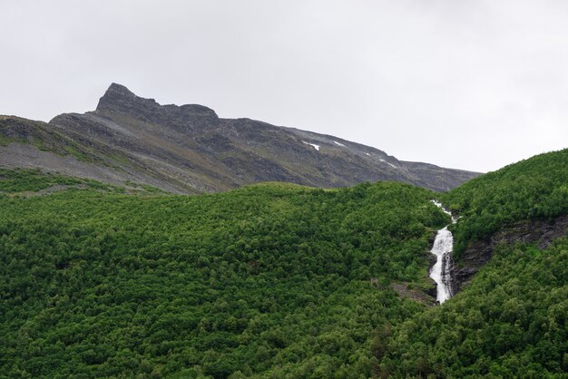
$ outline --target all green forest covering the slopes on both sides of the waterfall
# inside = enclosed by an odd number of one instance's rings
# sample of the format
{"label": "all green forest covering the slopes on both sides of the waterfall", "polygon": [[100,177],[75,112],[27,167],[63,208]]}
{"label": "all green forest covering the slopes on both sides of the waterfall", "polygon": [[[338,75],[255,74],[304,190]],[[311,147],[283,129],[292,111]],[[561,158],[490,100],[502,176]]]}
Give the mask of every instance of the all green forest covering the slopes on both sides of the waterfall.
{"label": "all green forest covering the slopes on both sides of the waterfall", "polygon": [[0,376],[565,377],[568,239],[499,247],[432,306],[395,288],[434,287],[450,219],[432,199],[460,216],[459,262],[505,225],[568,213],[568,151],[443,194],[181,196],[0,170]]}

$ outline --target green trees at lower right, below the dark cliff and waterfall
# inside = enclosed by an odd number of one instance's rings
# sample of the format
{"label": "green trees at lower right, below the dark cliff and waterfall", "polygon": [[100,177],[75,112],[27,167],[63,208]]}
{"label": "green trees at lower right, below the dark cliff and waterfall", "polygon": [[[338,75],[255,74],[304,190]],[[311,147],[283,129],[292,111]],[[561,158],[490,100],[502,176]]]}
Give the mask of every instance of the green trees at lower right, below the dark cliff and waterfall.
{"label": "green trees at lower right, below the dark cliff and waterfall", "polygon": [[[469,287],[394,328],[379,374],[565,377],[568,238],[502,247]],[[564,376],[563,376],[564,375]]]}

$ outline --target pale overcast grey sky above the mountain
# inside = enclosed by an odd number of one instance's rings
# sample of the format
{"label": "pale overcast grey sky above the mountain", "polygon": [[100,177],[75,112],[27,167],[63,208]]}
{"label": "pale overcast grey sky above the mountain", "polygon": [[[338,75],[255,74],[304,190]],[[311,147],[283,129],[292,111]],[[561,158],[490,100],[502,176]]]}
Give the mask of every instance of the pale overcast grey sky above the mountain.
{"label": "pale overcast grey sky above the mountain", "polygon": [[0,0],[0,114],[86,112],[112,82],[419,160],[568,147],[568,1]]}

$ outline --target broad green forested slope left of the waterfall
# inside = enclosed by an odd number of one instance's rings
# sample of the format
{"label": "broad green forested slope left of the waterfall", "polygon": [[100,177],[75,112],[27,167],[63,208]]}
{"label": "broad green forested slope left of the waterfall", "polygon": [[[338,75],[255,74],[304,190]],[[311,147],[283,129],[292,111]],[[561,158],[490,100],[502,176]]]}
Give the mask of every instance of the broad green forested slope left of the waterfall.
{"label": "broad green forested slope left of the waterfall", "polygon": [[424,309],[388,283],[426,277],[448,222],[432,196],[378,183],[0,199],[0,372],[369,376],[374,329]]}

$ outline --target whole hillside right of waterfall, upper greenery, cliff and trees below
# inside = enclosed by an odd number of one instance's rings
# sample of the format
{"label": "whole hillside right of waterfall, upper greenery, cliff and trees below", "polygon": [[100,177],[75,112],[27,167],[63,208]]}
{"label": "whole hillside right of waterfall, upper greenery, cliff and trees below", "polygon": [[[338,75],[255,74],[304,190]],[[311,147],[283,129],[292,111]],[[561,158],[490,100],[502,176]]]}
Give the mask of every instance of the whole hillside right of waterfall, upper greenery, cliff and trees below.
{"label": "whole hillside right of waterfall, upper greenery, cliff and trees below", "polygon": [[467,283],[443,306],[377,336],[377,374],[565,377],[568,150],[486,174],[443,199],[461,215],[455,275]]}

